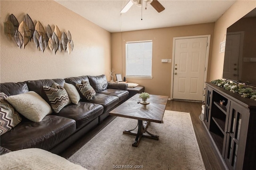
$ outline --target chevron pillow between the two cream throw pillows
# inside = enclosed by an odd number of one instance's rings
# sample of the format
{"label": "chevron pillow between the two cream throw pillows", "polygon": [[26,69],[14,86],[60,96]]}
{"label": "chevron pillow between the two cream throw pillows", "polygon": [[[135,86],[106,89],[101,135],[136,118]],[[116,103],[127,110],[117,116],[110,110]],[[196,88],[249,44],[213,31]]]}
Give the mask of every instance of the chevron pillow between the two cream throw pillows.
{"label": "chevron pillow between the two cream throw pillows", "polygon": [[67,91],[57,83],[53,83],[52,87],[43,86],[43,90],[55,113],[59,113],[63,107],[71,103]]}

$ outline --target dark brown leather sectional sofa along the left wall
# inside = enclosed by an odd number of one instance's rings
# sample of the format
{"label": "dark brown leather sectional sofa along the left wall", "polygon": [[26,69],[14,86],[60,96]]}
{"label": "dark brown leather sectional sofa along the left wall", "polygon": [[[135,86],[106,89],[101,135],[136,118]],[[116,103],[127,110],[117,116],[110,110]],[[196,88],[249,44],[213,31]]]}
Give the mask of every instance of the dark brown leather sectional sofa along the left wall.
{"label": "dark brown leather sectional sofa along the left wall", "polygon": [[69,104],[58,114],[46,115],[40,122],[32,122],[22,116],[16,127],[0,136],[1,154],[25,148],[41,148],[59,154],[131,96],[127,84],[108,83],[105,75],[0,83],[0,91],[7,96],[35,91],[44,98],[43,86],[56,82],[63,87],[65,82],[74,84],[82,80],[89,81],[96,91],[91,101],[80,99],[77,105]]}

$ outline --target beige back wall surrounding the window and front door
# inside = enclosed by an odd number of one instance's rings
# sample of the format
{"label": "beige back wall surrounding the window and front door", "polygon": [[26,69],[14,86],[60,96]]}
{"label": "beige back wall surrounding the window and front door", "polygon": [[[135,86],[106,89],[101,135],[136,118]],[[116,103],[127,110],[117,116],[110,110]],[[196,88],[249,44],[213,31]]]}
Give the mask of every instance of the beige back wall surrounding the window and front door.
{"label": "beige back wall surrounding the window and front door", "polygon": [[[112,67],[115,73],[125,75],[125,43],[132,41],[153,41],[152,51],[152,77],[153,79],[127,79],[128,82],[145,86],[145,91],[155,95],[171,93],[172,63],[162,63],[161,59],[172,59],[172,45],[174,37],[211,35],[214,33],[214,23],[139,30],[132,32],[112,33]],[[212,44],[212,38],[210,41]],[[211,59],[212,45],[210,45],[209,61]],[[210,69],[210,67],[208,67]]]}

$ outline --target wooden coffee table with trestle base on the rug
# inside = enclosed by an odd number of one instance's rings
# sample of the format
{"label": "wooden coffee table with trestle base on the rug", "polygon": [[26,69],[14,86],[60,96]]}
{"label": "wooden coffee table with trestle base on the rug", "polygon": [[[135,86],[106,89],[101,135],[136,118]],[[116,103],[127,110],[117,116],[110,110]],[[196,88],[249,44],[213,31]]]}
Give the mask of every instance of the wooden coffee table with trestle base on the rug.
{"label": "wooden coffee table with trestle base on the rug", "polygon": [[[132,146],[137,147],[140,139],[142,137],[150,138],[154,140],[158,140],[159,136],[151,134],[146,130],[147,125],[150,122],[162,123],[164,117],[164,111],[166,107],[166,103],[168,101],[168,96],[160,96],[160,95],[150,95],[150,102],[148,105],[138,103],[140,94],[136,94],[120,106],[116,107],[112,111],[110,111],[110,115],[118,116],[118,117],[126,117],[130,119],[137,119],[138,131],[134,131],[136,127],[132,130],[124,130],[125,134],[135,135],[136,138],[132,144]],[[144,121],[144,123],[143,123]]]}

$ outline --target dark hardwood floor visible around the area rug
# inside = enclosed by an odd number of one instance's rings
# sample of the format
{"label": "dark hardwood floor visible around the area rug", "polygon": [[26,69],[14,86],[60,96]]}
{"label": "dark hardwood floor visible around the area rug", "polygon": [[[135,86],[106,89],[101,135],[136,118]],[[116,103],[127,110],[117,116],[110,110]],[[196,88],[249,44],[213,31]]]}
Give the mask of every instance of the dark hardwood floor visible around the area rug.
{"label": "dark hardwood floor visible around the area rug", "polygon": [[[175,101],[171,100],[167,102],[166,110],[189,112],[194,131],[198,141],[198,145],[204,160],[206,170],[224,170],[224,166],[220,158],[217,156],[210,139],[208,138],[207,130],[204,128],[202,121],[199,119],[199,115],[202,112],[201,102],[189,102],[189,101]],[[88,132],[83,138],[72,144],[71,147],[66,149],[60,154],[64,158],[69,158],[77,150],[79,150],[86,142],[93,138],[100,130],[108,125],[115,117],[108,116],[100,125]]]}

